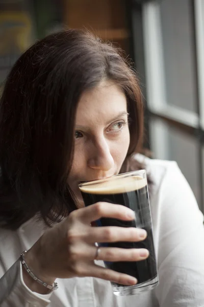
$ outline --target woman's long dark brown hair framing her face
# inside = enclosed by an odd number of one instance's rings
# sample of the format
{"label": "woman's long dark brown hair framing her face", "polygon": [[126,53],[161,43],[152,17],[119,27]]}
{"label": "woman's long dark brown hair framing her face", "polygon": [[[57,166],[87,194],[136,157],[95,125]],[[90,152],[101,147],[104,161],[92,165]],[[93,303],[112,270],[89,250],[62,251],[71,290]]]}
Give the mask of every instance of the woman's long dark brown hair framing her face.
{"label": "woman's long dark brown hair framing her face", "polygon": [[47,225],[76,209],[67,185],[73,127],[82,93],[101,80],[124,91],[130,113],[130,156],[143,135],[136,74],[118,49],[83,30],[37,41],[15,63],[0,103],[0,224],[17,229],[39,214]]}

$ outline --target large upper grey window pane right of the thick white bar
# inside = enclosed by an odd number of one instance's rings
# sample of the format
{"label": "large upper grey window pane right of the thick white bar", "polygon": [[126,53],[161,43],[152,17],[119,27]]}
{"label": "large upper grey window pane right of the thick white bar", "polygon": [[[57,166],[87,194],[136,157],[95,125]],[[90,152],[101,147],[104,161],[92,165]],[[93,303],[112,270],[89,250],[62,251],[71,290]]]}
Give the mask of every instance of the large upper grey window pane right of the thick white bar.
{"label": "large upper grey window pane right of the thick white bar", "polygon": [[160,14],[167,103],[197,112],[192,1],[163,0]]}

